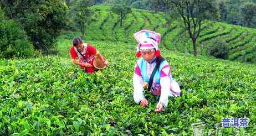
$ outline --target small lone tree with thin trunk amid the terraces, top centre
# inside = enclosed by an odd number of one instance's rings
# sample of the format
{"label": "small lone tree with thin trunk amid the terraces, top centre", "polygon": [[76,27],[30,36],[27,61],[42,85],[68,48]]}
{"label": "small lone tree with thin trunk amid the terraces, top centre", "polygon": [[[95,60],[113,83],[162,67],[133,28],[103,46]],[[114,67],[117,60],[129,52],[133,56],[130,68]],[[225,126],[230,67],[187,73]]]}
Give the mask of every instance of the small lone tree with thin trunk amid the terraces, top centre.
{"label": "small lone tree with thin trunk amid the terraces, top centre", "polygon": [[128,13],[131,13],[131,8],[129,6],[125,6],[124,4],[116,4],[111,7],[111,11],[118,14],[120,16],[120,27],[122,27],[122,23]]}

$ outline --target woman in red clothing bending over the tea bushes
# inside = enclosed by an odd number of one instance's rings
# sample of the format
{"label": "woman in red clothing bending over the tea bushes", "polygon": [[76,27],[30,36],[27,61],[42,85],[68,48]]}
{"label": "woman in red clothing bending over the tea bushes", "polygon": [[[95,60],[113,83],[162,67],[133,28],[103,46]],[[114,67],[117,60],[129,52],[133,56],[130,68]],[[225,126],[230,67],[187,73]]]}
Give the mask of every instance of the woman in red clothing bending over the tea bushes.
{"label": "woman in red clothing bending over the tea bushes", "polygon": [[75,37],[73,39],[73,46],[70,48],[70,55],[74,64],[79,65],[81,69],[85,69],[85,72],[88,73],[95,72],[95,67],[93,66],[95,56],[98,56],[105,65],[108,65],[108,62],[103,59],[103,56],[94,46],[85,44],[79,37]]}

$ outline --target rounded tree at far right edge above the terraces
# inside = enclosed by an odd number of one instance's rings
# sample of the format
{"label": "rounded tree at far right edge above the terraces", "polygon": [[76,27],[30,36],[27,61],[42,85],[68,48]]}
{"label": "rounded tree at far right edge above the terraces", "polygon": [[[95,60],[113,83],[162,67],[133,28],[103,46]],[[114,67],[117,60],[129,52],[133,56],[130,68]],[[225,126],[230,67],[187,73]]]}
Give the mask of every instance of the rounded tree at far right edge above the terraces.
{"label": "rounded tree at far right edge above the terraces", "polygon": [[247,2],[240,6],[240,16],[247,24],[247,27],[252,27],[253,18],[256,17],[256,4]]}

